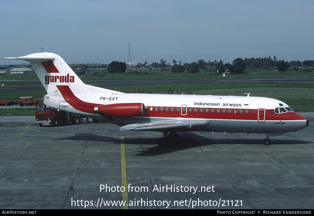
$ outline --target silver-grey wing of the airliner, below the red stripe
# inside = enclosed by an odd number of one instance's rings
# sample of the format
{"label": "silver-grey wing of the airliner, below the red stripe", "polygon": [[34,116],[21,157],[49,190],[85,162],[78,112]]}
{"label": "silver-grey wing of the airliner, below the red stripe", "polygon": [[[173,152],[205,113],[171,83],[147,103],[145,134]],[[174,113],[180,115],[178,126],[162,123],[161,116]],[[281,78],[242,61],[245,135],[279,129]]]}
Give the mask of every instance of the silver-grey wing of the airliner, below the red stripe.
{"label": "silver-grey wing of the airliner, below the red stripe", "polygon": [[206,124],[203,122],[196,121],[165,121],[156,123],[140,123],[140,124],[130,124],[120,127],[122,131],[189,131],[189,128],[201,127]]}

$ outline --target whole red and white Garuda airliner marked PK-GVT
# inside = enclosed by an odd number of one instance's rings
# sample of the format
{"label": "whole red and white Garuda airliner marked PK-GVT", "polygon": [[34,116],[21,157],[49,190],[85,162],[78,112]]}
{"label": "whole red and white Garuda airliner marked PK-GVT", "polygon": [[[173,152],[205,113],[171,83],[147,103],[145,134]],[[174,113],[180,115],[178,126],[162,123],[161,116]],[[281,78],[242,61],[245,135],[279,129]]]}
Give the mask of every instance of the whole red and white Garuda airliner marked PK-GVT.
{"label": "whole red and white Garuda airliner marked PK-GVT", "polygon": [[306,128],[309,121],[280,100],[246,96],[126,94],[84,84],[57,54],[41,52],[8,57],[30,62],[45,87],[44,104],[122,126],[122,131],[163,132],[160,147],[177,132],[266,133],[283,136]]}

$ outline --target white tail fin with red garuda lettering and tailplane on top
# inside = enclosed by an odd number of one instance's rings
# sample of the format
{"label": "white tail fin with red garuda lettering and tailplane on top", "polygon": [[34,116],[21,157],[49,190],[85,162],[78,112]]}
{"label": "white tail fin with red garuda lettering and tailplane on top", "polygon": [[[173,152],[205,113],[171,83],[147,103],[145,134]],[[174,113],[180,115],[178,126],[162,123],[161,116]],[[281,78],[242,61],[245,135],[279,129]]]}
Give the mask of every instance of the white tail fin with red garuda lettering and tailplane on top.
{"label": "white tail fin with red garuda lettering and tailplane on top", "polygon": [[102,94],[121,93],[84,84],[68,64],[54,53],[41,52],[22,57],[3,59],[18,59],[30,62],[48,94],[61,95],[58,86],[68,86],[76,95],[88,95],[93,94],[93,92],[101,92]]}

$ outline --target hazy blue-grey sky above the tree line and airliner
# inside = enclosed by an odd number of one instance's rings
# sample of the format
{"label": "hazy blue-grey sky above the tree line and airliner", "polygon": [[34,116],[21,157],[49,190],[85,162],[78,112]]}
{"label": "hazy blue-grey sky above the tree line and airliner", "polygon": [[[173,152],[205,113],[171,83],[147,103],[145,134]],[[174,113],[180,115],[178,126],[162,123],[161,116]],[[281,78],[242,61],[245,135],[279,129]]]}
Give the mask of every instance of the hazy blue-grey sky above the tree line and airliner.
{"label": "hazy blue-grey sky above the tree line and airliner", "polygon": [[1,0],[0,14],[0,58],[44,47],[68,64],[128,62],[130,43],[149,64],[314,59],[312,0]]}

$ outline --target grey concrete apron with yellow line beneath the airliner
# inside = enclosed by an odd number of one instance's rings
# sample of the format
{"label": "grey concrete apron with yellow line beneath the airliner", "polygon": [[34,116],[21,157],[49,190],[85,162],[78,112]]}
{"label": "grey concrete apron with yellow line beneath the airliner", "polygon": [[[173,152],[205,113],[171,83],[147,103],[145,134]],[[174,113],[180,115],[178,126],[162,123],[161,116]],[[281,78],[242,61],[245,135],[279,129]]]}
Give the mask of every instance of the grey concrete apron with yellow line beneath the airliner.
{"label": "grey concrete apron with yellow line beneath the airliner", "polygon": [[300,114],[309,126],[268,146],[265,134],[183,132],[168,148],[159,132],[0,116],[0,208],[312,209],[314,113]]}

